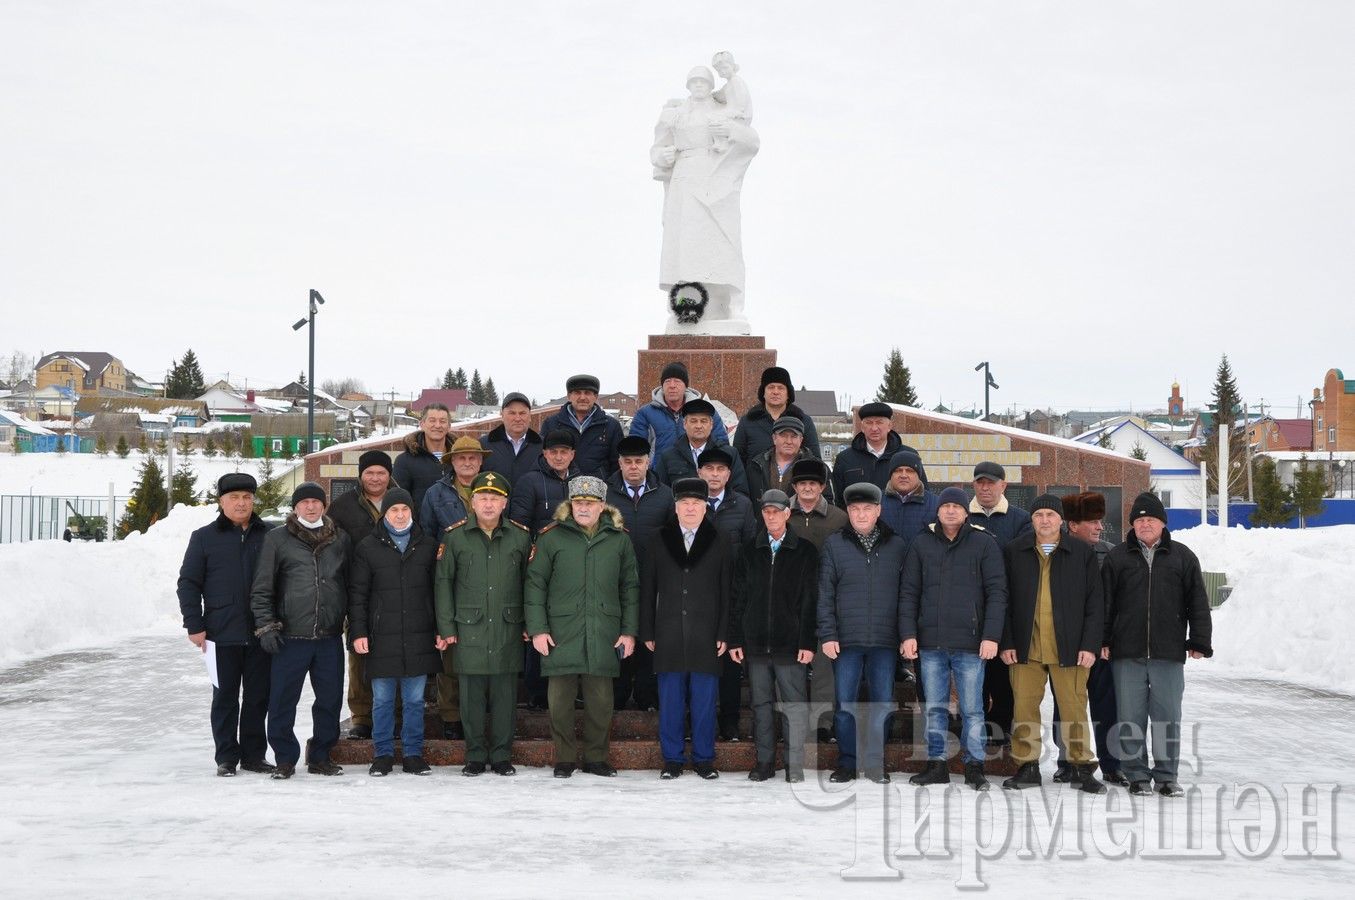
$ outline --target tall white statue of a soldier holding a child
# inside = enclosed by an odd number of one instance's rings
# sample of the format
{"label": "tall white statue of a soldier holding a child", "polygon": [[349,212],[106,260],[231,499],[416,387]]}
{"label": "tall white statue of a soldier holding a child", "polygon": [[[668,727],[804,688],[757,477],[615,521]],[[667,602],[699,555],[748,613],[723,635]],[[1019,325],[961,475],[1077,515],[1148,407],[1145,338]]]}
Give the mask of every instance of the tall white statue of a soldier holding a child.
{"label": "tall white statue of a soldier holding a child", "polygon": [[664,183],[659,287],[668,294],[667,333],[748,335],[738,194],[757,153],[752,96],[734,57],[687,73],[686,100],[669,100],[654,126],[649,160]]}

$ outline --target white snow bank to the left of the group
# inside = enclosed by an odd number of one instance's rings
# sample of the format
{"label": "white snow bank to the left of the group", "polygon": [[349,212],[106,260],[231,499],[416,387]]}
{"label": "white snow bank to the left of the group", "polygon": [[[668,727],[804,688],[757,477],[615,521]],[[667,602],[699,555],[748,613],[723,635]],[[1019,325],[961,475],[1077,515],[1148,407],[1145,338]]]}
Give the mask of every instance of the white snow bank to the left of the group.
{"label": "white snow bank to the left of the group", "polygon": [[175,507],[126,541],[0,545],[0,668],[182,628],[175,583],[188,534],[217,507]]}

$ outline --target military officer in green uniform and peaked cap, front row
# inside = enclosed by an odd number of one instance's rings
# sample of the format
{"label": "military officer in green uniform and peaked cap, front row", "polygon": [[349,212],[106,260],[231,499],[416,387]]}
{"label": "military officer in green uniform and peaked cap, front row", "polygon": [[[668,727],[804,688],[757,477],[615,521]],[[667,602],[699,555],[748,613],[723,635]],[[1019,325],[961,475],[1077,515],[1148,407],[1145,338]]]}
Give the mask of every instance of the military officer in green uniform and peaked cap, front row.
{"label": "military officer in green uniform and peaked cap, front row", "polygon": [[466,735],[462,775],[482,774],[485,763],[499,775],[516,773],[512,729],[527,637],[522,603],[531,535],[526,526],[504,518],[508,489],[501,474],[477,474],[470,515],[444,533],[438,549],[438,649],[457,645]]}

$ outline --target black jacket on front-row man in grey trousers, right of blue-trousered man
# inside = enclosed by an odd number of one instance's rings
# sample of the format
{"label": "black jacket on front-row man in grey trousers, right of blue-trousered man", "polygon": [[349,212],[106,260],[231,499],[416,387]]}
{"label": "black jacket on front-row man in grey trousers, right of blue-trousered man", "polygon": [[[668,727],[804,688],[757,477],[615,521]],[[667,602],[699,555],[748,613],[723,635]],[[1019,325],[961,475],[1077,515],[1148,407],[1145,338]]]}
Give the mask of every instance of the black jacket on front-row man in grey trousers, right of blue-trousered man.
{"label": "black jacket on front-row man in grey trousers, right of blue-trousered man", "polygon": [[775,557],[766,529],[745,544],[734,567],[729,645],[753,657],[814,652],[818,618],[818,549],[786,529]]}

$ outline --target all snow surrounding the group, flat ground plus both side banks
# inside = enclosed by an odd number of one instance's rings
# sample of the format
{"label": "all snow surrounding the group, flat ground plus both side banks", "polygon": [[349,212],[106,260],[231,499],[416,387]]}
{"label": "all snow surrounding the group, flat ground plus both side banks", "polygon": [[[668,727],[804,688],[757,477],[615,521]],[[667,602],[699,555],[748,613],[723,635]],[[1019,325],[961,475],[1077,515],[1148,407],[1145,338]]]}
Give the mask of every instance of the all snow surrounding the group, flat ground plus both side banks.
{"label": "all snow surrounding the group, flat ground plus both side banks", "polygon": [[[844,804],[743,773],[215,778],[210,687],[173,598],[187,534],[211,515],[179,508],[123,544],[0,546],[4,896],[885,896],[981,881],[1004,896],[1287,897],[1348,896],[1355,880],[1355,526],[1179,534],[1236,584],[1215,657],[1187,670],[1182,781],[1196,793],[1046,786],[974,809],[972,792],[902,778],[888,808],[866,783]],[[915,850],[927,802],[948,855]]]}

